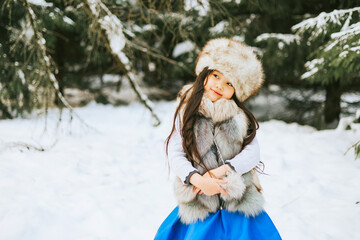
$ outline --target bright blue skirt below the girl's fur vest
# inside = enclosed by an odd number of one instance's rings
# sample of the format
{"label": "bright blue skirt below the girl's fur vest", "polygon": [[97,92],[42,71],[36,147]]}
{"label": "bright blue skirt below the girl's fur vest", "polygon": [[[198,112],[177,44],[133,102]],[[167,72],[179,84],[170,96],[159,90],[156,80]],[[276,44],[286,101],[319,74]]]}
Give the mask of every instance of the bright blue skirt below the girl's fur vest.
{"label": "bright blue skirt below the girl's fur vest", "polygon": [[263,211],[256,217],[246,217],[220,209],[204,221],[192,224],[180,222],[176,207],[158,229],[155,240],[278,240],[281,239],[269,215]]}

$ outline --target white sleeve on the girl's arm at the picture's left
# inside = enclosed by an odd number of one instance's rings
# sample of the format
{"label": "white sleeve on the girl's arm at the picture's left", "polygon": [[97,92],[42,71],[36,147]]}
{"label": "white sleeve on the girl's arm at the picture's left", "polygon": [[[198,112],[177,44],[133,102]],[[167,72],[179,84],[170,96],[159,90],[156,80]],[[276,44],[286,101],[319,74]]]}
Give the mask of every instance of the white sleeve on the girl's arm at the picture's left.
{"label": "white sleeve on the girl's arm at the picture's left", "polygon": [[[178,119],[178,118],[177,118]],[[179,120],[175,122],[175,131],[170,138],[168,146],[168,158],[170,170],[178,176],[184,184],[191,185],[190,177],[198,170],[192,166],[186,158],[186,153],[182,147]]]}

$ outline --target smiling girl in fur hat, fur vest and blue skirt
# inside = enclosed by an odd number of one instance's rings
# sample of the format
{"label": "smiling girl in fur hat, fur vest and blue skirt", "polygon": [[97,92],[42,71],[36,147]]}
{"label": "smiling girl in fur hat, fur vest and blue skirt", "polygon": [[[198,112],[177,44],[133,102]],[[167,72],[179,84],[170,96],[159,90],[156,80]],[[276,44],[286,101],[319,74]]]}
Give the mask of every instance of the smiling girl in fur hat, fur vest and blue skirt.
{"label": "smiling girl in fur hat, fur vest and blue skirt", "polygon": [[166,141],[178,207],[155,239],[281,239],[254,170],[258,123],[243,105],[263,83],[261,63],[246,45],[218,38],[204,46],[195,72]]}

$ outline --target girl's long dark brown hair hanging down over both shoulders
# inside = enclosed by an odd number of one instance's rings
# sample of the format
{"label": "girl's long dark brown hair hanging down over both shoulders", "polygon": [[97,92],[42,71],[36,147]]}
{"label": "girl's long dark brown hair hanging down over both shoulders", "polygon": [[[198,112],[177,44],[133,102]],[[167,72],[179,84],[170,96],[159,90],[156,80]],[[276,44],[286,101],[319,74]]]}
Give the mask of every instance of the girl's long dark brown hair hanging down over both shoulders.
{"label": "girl's long dark brown hair hanging down over both shoulders", "polygon": [[[180,103],[179,103],[178,107],[176,108],[176,111],[174,114],[172,129],[171,129],[169,136],[165,140],[166,156],[168,156],[169,142],[170,142],[171,136],[173,135],[173,133],[175,131],[176,118],[178,117],[180,126],[181,126],[180,133],[181,133],[181,137],[182,137],[182,146],[183,146],[183,149],[184,149],[187,159],[191,162],[191,164],[193,166],[195,166],[197,164],[197,165],[204,167],[205,169],[207,169],[207,168],[206,168],[205,164],[203,163],[203,160],[197,149],[196,135],[194,133],[194,126],[199,117],[199,106],[201,103],[201,99],[204,95],[204,85],[206,85],[208,76],[213,71],[215,71],[215,70],[205,67],[201,71],[201,73],[197,76],[193,85],[188,90],[186,90],[185,93],[182,93],[180,95]],[[191,90],[192,90],[192,92],[191,92],[190,96],[188,96],[188,93]],[[249,119],[248,132],[247,132],[247,136],[245,137],[245,139],[243,141],[243,144],[241,147],[241,150],[242,150],[246,145],[248,145],[255,138],[256,130],[259,129],[259,123],[257,122],[254,115],[250,112],[250,110],[247,109],[245,107],[245,105],[236,98],[235,93],[232,96],[232,99],[235,101],[236,105],[245,112],[246,116]],[[182,111],[183,116],[179,116],[180,115],[179,113],[182,110],[182,108],[184,108]],[[263,165],[262,162],[261,162],[261,164]],[[259,169],[259,167],[257,167],[257,169]],[[263,172],[263,170],[260,170],[260,171]]]}

